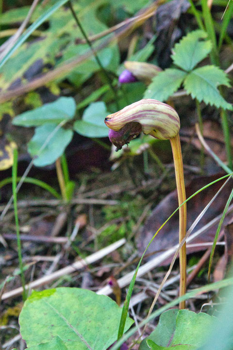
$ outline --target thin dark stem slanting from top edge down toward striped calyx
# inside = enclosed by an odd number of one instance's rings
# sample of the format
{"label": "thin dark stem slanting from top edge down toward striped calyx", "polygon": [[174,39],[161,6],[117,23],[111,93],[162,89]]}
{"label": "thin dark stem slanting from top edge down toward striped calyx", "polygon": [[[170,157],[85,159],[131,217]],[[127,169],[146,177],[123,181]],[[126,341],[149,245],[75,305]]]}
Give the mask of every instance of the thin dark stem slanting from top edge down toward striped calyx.
{"label": "thin dark stem slanting from top edge down toward striped calyx", "polygon": [[102,63],[101,63],[98,54],[95,52],[95,50],[94,50],[94,48],[93,48],[93,46],[92,46],[91,41],[89,40],[88,36],[86,35],[86,32],[84,31],[83,26],[82,26],[82,24],[81,24],[79,18],[77,17],[77,15],[76,15],[76,13],[75,13],[75,11],[74,11],[74,8],[73,8],[73,6],[72,6],[71,1],[68,1],[68,6],[69,6],[70,11],[71,11],[71,13],[72,13],[72,15],[73,15],[73,18],[75,19],[75,21],[76,21],[76,23],[77,23],[77,25],[78,25],[78,27],[79,27],[81,33],[83,34],[83,36],[84,36],[84,38],[85,38],[85,40],[86,40],[86,43],[88,44],[90,50],[92,51],[93,56],[94,56],[95,59],[96,59],[96,62],[97,62],[98,65],[100,66],[100,70],[102,71],[103,75],[105,76],[105,78],[106,78],[106,80],[107,80],[107,83],[108,83],[108,85],[109,85],[109,88],[112,90],[112,92],[113,92],[113,94],[114,94],[114,96],[115,96],[116,108],[117,108],[117,109],[120,109],[120,108],[119,108],[119,104],[118,104],[118,98],[117,98],[117,95],[116,95],[116,90],[115,90],[115,88],[113,87],[113,84],[112,84],[112,82],[111,82],[111,79],[109,78],[109,75],[108,75],[107,71],[104,69],[104,67],[103,67],[103,65],[102,65]]}

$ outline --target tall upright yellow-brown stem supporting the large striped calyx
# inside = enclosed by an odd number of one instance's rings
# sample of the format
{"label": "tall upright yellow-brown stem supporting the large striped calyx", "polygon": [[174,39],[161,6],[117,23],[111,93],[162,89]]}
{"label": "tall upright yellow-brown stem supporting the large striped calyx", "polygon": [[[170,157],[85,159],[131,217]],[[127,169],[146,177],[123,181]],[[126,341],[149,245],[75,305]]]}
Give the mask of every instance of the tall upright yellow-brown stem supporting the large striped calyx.
{"label": "tall upright yellow-brown stem supporting the large striped calyx", "polygon": [[[178,192],[179,206],[186,200],[184,178],[183,178],[183,160],[181,153],[180,136],[177,134],[170,139],[171,148],[174,158],[176,186]],[[186,203],[179,209],[179,243],[182,242],[186,234],[187,225],[187,209]],[[180,297],[186,293],[186,243],[183,244],[180,250]],[[185,300],[179,304],[180,309],[185,308]]]}

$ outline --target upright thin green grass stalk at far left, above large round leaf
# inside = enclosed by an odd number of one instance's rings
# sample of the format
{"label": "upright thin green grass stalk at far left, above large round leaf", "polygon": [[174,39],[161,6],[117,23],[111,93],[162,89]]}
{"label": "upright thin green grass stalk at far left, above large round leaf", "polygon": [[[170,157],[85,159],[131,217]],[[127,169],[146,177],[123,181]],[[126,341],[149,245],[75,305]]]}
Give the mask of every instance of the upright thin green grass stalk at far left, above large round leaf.
{"label": "upright thin green grass stalk at far left, above large round leaf", "polygon": [[14,213],[16,222],[16,235],[17,235],[17,252],[18,252],[18,263],[20,269],[21,283],[23,287],[23,300],[27,299],[27,293],[25,290],[25,277],[23,273],[23,260],[22,260],[22,248],[19,233],[19,221],[18,221],[18,210],[17,210],[17,161],[18,161],[18,151],[15,148],[13,152],[13,166],[12,166],[12,191],[13,191],[13,203],[14,203]]}

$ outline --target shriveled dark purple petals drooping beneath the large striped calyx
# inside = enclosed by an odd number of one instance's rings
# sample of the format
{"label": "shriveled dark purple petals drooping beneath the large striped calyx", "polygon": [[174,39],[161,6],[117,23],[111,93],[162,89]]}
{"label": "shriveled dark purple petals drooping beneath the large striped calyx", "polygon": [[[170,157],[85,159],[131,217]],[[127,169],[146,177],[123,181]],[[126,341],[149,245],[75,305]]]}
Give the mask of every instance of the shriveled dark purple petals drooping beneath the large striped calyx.
{"label": "shriveled dark purple petals drooping beneath the large striped calyx", "polygon": [[127,123],[119,131],[109,130],[109,140],[116,146],[116,151],[119,151],[124,144],[128,144],[132,139],[142,131],[142,126],[139,123]]}

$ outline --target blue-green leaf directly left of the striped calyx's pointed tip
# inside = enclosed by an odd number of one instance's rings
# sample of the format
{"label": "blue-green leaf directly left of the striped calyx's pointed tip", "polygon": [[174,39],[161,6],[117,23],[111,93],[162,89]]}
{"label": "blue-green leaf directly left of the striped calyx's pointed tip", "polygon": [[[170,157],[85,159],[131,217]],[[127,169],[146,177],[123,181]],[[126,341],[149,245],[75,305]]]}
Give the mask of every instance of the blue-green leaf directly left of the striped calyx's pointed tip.
{"label": "blue-green leaf directly left of the striped calyx's pointed tip", "polygon": [[92,103],[84,110],[82,120],[74,123],[74,130],[86,137],[107,137],[109,128],[104,124],[104,119],[108,114],[104,102]]}

